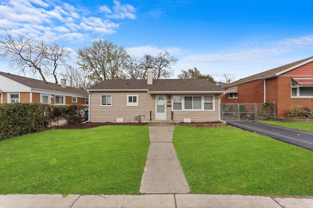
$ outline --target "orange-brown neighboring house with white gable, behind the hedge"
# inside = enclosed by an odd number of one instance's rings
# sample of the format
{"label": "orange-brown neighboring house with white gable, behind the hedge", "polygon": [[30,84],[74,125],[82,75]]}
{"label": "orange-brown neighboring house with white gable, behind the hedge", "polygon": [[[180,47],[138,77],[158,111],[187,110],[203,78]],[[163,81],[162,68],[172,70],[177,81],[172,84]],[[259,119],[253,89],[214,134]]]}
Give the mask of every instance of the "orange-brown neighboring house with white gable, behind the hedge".
{"label": "orange-brown neighboring house with white gable, behind the hedge", "polygon": [[10,73],[0,72],[1,103],[42,102],[55,105],[88,104],[84,90],[61,84],[45,82]]}

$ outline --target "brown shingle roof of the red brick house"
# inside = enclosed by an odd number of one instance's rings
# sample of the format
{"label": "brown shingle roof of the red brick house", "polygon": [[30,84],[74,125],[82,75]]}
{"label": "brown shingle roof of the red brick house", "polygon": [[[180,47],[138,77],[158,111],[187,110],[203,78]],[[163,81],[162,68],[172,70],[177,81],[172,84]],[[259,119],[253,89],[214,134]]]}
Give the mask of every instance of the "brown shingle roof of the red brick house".
{"label": "brown shingle roof of the red brick house", "polygon": [[254,74],[252,76],[249,76],[249,77],[245,77],[245,78],[242,78],[242,79],[239,79],[235,82],[232,82],[232,83],[229,83],[227,85],[224,85],[223,87],[228,87],[229,85],[233,85],[233,84],[237,84],[237,83],[240,83],[240,82],[244,82],[244,81],[248,81],[250,79],[255,79],[255,78],[259,78],[259,77],[264,77],[264,76],[267,76],[267,75],[271,75],[271,74],[276,74],[276,73],[279,73],[279,72],[282,72],[284,71],[285,69],[288,69],[290,67],[294,67],[302,62],[305,62],[307,60],[310,60],[312,59],[312,57],[308,57],[308,58],[305,58],[305,59],[302,59],[300,61],[296,61],[296,62],[293,62],[293,63],[290,63],[290,64],[286,64],[284,66],[281,66],[281,67],[277,67],[277,68],[274,68],[274,69],[270,69],[268,71],[265,71],[265,72],[261,72],[261,73],[258,73],[258,74]]}

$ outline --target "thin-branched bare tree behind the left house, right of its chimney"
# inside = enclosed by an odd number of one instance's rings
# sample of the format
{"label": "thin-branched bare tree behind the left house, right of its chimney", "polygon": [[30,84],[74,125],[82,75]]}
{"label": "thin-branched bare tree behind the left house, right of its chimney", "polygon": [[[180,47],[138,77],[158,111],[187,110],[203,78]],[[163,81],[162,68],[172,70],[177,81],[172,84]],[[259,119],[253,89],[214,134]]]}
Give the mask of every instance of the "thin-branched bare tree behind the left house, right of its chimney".
{"label": "thin-branched bare tree behind the left house, right of its chimney", "polygon": [[94,83],[88,78],[88,72],[81,68],[67,66],[60,75],[68,80],[70,87],[80,88],[85,90],[91,87]]}

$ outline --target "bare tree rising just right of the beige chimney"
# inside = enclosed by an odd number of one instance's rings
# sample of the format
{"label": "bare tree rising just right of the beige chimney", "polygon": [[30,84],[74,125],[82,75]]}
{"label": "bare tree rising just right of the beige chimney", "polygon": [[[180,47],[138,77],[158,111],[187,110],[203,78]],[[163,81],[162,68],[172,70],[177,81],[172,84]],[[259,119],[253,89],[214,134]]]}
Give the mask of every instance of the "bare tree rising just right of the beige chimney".
{"label": "bare tree rising just right of the beige chimney", "polygon": [[174,75],[174,71],[171,66],[176,65],[177,62],[177,57],[171,56],[168,51],[159,52],[155,57],[153,78],[159,79],[161,77],[172,77]]}

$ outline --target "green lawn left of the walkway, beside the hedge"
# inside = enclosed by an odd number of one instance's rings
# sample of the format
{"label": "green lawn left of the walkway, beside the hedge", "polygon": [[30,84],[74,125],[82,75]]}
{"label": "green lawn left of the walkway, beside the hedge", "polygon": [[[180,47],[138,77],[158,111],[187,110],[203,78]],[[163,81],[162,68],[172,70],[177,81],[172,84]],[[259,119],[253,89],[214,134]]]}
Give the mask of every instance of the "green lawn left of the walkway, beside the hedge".
{"label": "green lawn left of the walkway, beside the hedge", "polygon": [[0,141],[0,194],[139,194],[147,126],[49,130]]}

